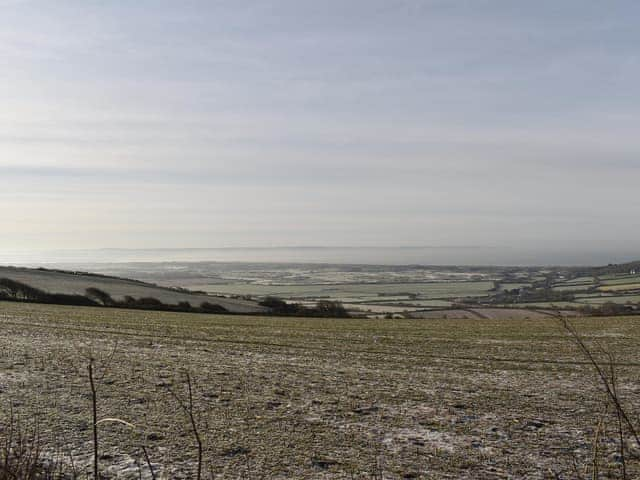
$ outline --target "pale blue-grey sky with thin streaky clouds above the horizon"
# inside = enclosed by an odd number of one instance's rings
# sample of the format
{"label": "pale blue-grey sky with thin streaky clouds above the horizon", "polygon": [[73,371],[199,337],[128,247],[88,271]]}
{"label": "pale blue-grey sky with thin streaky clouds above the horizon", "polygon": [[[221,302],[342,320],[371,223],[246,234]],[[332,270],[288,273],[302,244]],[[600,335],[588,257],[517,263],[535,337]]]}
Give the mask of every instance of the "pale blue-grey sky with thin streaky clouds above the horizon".
{"label": "pale blue-grey sky with thin streaky clouds above the horizon", "polygon": [[637,252],[640,3],[0,0],[0,249]]}

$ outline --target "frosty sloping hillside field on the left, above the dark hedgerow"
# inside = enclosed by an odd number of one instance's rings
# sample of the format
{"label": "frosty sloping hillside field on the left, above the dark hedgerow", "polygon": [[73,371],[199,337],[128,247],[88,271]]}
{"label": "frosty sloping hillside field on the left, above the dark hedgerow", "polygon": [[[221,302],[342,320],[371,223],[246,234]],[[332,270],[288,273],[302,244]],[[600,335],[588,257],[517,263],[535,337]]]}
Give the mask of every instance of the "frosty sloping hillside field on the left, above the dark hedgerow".
{"label": "frosty sloping hillside field on the left, above the dark hedgerow", "polygon": [[136,299],[153,297],[166,304],[189,302],[198,306],[203,302],[220,305],[231,313],[267,312],[265,307],[249,300],[218,297],[188,291],[174,290],[157,285],[84,272],[67,272],[21,267],[0,267],[0,278],[22,282],[47,293],[84,295],[87,288],[98,288],[107,292],[114,300],[126,296]]}

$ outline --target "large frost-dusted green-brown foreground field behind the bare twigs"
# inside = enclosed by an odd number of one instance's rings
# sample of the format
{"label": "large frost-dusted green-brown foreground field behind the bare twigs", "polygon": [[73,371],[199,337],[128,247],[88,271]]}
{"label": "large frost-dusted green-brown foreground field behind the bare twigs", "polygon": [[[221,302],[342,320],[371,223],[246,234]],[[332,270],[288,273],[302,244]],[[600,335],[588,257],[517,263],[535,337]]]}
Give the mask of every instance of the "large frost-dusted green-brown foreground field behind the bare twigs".
{"label": "large frost-dusted green-brown foreground field behind the bare twigs", "polygon": [[[638,418],[640,318],[573,323],[616,352],[619,390]],[[99,418],[135,426],[100,424],[111,478],[151,478],[141,445],[158,478],[195,478],[196,442],[179,403],[185,371],[207,478],[578,478],[603,405],[593,369],[550,318],[282,319],[0,303],[0,328],[0,425],[11,414],[25,428],[37,420],[48,454],[82,471],[92,449],[87,365],[97,359]],[[601,478],[619,475],[616,435],[605,421]],[[628,478],[637,478],[629,455]]]}

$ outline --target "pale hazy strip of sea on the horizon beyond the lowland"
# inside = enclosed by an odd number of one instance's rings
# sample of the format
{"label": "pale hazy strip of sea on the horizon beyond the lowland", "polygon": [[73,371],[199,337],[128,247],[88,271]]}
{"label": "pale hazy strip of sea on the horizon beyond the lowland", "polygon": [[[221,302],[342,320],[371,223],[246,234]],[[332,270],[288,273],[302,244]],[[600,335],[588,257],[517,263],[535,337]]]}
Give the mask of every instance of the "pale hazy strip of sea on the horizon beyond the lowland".
{"label": "pale hazy strip of sea on the horizon beyond the lowland", "polygon": [[122,262],[247,262],[366,265],[593,266],[640,257],[635,251],[533,249],[503,246],[269,246],[216,248],[101,248],[84,250],[0,250],[0,264]]}

